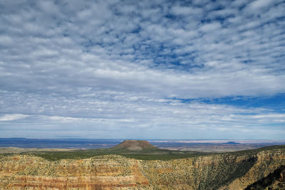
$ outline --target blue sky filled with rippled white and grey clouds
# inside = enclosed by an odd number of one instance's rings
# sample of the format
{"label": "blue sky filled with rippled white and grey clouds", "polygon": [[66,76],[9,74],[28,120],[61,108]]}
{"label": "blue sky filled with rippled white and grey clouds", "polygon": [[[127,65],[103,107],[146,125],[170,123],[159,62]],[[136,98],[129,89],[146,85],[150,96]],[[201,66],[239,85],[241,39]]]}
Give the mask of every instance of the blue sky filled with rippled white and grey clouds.
{"label": "blue sky filled with rippled white and grey clouds", "polygon": [[285,139],[285,1],[0,1],[0,137]]}

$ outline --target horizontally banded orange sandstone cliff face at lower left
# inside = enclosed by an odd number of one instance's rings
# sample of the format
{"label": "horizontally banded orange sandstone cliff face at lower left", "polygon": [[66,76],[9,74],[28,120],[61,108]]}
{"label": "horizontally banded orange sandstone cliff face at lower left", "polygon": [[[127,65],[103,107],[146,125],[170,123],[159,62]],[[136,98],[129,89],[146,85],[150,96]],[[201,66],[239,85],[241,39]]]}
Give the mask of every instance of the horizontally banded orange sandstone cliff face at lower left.
{"label": "horizontally banded orange sandstone cliff face at lower left", "polygon": [[0,189],[123,189],[149,184],[138,160],[115,155],[53,162],[25,155],[0,162]]}

